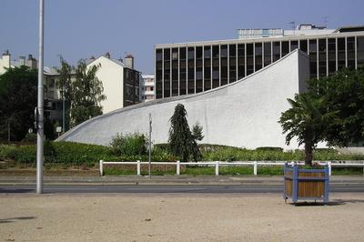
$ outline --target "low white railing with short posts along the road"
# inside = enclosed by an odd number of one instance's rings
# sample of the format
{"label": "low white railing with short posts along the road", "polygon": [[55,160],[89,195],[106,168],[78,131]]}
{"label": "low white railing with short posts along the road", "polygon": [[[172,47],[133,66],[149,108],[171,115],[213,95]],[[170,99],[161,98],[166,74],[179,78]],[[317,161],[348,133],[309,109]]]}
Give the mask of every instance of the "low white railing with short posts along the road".
{"label": "low white railing with short posts along the road", "polygon": [[[258,166],[284,166],[286,161],[235,161],[235,162],[222,162],[222,161],[200,161],[200,162],[183,162],[181,163],[179,160],[177,162],[151,162],[151,165],[175,165],[176,166],[176,175],[180,175],[181,166],[215,166],[215,175],[218,176],[218,168],[219,166],[253,166],[253,174],[258,175]],[[331,167],[332,166],[341,166],[341,167],[363,167],[364,173],[364,161],[363,160],[345,160],[345,161],[313,161],[313,163],[317,163],[319,165],[328,165],[329,166],[329,176],[331,176]],[[140,160],[129,161],[129,162],[119,162],[119,161],[103,161],[100,160],[100,176],[104,175],[104,165],[136,165],[136,175],[140,175],[140,166],[148,165],[148,162],[141,162]],[[291,161],[288,164],[290,165],[304,165],[304,162],[294,162]]]}

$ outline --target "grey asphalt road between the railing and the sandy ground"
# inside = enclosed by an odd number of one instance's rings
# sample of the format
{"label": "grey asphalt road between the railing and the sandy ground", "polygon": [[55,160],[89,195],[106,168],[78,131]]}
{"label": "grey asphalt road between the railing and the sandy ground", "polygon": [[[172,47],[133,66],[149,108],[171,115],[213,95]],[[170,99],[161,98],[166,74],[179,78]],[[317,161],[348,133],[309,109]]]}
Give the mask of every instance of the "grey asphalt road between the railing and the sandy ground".
{"label": "grey asphalt road between the railing and the sandy ground", "polygon": [[[281,193],[281,185],[49,185],[44,192],[54,193]],[[330,192],[364,193],[363,184],[332,184]],[[0,194],[35,193],[35,186],[0,186]]]}

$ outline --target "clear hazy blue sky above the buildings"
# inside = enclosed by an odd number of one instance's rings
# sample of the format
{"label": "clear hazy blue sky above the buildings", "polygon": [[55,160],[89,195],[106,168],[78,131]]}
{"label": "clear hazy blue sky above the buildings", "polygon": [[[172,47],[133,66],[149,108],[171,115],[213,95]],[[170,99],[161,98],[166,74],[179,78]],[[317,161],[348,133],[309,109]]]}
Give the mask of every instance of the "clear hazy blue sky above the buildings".
{"label": "clear hazy blue sky above the buildings", "polygon": [[[232,39],[238,28],[296,24],[364,25],[363,0],[45,0],[45,66],[59,55],[76,65],[91,55],[132,54],[153,74],[154,45]],[[38,59],[38,0],[0,0],[0,52]]]}

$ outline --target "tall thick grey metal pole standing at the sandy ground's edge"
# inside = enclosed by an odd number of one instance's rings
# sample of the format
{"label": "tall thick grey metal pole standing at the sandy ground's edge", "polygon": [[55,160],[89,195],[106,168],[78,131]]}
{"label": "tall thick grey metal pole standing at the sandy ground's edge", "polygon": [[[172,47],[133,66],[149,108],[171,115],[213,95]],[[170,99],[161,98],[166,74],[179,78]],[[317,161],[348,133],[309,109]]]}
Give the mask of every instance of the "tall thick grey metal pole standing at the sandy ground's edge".
{"label": "tall thick grey metal pole standing at the sandy ground's edge", "polygon": [[44,85],[43,85],[43,69],[44,69],[44,14],[45,1],[39,0],[39,66],[38,66],[38,124],[36,136],[36,193],[43,193],[43,160],[44,160]]}

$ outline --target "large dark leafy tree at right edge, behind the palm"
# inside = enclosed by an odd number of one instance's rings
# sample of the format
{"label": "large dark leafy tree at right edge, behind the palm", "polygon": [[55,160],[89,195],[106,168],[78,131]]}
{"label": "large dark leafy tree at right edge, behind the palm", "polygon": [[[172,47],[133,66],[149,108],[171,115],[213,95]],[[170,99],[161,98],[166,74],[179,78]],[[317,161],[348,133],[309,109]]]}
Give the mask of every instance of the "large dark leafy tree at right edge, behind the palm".
{"label": "large dark leafy tree at right edge, behind the palm", "polygon": [[327,112],[335,114],[325,126],[325,139],[330,146],[364,141],[364,66],[309,80],[308,89],[314,95],[323,96]]}

